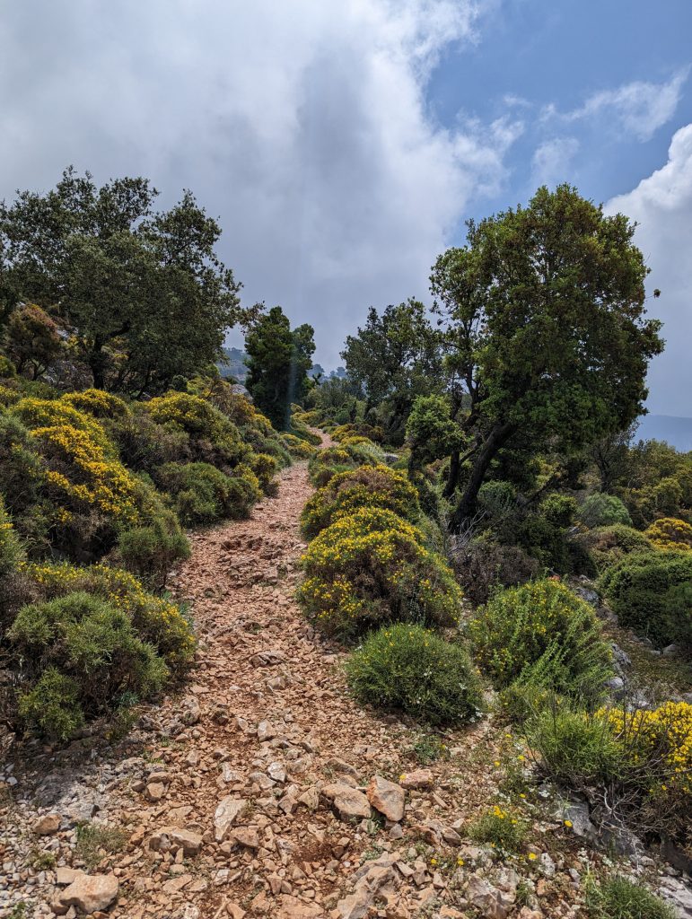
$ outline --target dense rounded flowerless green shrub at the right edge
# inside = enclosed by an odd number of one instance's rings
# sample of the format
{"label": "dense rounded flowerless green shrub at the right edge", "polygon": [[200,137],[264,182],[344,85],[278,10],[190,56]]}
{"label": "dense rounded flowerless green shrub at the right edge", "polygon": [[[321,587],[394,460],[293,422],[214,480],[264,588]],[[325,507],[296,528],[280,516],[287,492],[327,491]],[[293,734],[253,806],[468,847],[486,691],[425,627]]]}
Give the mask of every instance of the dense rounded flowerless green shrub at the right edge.
{"label": "dense rounded flowerless green shrub at the right edge", "polygon": [[692,644],[692,608],[680,603],[692,584],[692,553],[633,552],[608,568],[598,590],[618,616],[620,625],[658,647],[671,642]]}

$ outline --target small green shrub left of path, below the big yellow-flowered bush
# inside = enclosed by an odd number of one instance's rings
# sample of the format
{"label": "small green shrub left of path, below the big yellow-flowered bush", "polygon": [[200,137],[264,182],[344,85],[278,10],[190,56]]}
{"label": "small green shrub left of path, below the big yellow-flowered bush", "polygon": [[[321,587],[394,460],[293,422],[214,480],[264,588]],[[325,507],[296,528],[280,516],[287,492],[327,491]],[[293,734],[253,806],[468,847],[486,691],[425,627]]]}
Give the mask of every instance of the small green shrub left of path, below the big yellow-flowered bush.
{"label": "small green shrub left of path, below the big yellow-flowered bush", "polygon": [[160,589],[174,564],[189,558],[190,547],[177,517],[170,511],[163,511],[148,526],[122,532],[118,552],[128,571]]}

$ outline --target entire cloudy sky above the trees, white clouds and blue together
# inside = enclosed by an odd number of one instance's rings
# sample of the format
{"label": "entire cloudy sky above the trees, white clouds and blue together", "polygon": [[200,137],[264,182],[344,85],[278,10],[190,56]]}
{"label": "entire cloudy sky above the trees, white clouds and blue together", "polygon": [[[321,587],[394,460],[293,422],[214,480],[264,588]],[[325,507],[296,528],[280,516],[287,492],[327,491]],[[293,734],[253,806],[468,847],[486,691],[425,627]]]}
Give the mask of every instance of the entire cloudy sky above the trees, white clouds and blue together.
{"label": "entire cloudy sky above the trees, white clouds and blue together", "polygon": [[691,34],[689,0],[5,3],[0,198],[70,163],[191,188],[244,300],[334,367],[370,304],[428,298],[468,217],[569,181],[640,222],[649,404],[692,415]]}

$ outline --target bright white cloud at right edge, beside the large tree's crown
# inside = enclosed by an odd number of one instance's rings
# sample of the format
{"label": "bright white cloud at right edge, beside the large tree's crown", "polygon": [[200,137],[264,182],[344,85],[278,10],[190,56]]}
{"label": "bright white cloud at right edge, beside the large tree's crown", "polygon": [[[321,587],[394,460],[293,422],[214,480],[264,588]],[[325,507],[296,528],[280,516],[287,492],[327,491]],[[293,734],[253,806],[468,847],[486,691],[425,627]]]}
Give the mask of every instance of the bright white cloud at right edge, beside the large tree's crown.
{"label": "bright white cloud at right edge, beside the large tree's crown", "polygon": [[607,203],[638,221],[635,241],[652,269],[648,287],[660,288],[652,315],[664,320],[665,352],[652,364],[649,407],[658,414],[692,416],[692,124],[675,132],[668,162],[626,195]]}

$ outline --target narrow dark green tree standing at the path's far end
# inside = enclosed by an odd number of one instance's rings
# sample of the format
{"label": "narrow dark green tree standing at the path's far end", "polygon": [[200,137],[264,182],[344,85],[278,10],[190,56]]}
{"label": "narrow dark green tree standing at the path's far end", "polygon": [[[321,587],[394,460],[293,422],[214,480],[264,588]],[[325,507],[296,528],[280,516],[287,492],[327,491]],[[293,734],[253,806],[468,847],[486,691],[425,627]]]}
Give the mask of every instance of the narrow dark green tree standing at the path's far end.
{"label": "narrow dark green tree standing at the path's far end", "polygon": [[279,430],[289,428],[291,403],[300,403],[312,385],[308,371],[315,350],[313,336],[307,323],[291,331],[280,306],[260,315],[245,336],[245,386],[257,408]]}

